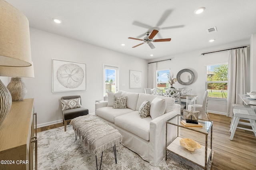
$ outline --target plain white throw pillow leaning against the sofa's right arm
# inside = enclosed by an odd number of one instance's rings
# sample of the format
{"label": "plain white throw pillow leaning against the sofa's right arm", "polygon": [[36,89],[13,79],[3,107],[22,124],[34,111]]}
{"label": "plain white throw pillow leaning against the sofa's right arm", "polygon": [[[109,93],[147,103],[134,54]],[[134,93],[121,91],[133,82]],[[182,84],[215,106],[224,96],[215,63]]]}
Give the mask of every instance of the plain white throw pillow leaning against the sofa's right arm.
{"label": "plain white throw pillow leaning against the sofa's right arm", "polygon": [[152,120],[163,115],[165,109],[166,109],[165,99],[162,99],[160,97],[154,98],[154,100],[151,102],[150,113],[149,113]]}

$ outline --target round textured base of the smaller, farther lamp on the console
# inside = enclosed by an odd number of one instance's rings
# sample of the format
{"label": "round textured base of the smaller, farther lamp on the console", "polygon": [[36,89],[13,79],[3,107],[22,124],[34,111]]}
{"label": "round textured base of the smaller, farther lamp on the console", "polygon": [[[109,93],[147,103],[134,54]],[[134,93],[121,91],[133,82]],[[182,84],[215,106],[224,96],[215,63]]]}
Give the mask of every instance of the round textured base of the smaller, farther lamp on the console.
{"label": "round textured base of the smaller, farther lamp on the console", "polygon": [[27,93],[27,87],[21,77],[12,77],[7,89],[12,95],[12,101],[22,101]]}

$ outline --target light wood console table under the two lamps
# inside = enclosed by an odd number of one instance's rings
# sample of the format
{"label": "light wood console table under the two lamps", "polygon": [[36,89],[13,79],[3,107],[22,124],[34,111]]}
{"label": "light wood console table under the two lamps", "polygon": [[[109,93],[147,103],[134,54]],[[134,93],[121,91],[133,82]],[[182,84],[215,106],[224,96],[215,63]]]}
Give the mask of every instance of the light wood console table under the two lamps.
{"label": "light wood console table under the two lamps", "polygon": [[0,125],[1,170],[37,169],[36,113],[33,113],[33,103],[34,99],[12,102],[10,112]]}

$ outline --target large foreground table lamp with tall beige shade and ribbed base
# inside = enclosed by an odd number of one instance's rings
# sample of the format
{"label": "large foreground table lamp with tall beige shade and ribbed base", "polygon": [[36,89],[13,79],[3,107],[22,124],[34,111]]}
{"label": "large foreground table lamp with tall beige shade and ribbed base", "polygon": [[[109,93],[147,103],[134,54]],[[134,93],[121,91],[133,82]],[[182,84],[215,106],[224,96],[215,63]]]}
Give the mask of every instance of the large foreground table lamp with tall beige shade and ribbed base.
{"label": "large foreground table lamp with tall beige shade and ribbed base", "polygon": [[[0,0],[0,21],[0,66],[31,66],[30,34],[26,16],[8,2]],[[0,81],[0,124],[9,113],[11,105],[11,94]]]}

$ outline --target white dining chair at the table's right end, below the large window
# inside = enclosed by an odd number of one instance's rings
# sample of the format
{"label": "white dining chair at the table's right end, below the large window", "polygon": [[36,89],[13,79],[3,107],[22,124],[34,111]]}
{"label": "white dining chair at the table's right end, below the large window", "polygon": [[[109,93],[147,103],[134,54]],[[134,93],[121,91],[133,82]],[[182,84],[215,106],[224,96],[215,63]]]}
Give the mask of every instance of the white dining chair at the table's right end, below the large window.
{"label": "white dining chair at the table's right end, below the large window", "polygon": [[208,104],[208,91],[205,91],[203,104],[202,105],[196,104],[196,111],[200,111],[200,113],[198,115],[198,119],[204,119],[206,121],[208,121],[210,119],[208,112],[207,112],[207,104]]}

